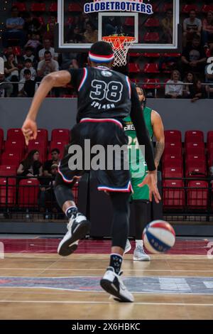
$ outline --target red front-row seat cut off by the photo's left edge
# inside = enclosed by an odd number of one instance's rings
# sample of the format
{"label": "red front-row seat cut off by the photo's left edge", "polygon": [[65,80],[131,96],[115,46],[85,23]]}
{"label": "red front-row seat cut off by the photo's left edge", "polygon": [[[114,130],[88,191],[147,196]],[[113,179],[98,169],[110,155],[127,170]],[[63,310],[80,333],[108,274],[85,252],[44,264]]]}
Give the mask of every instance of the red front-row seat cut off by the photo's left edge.
{"label": "red front-row seat cut off by the photo's left edge", "polygon": [[16,205],[16,178],[0,178],[0,207]]}

